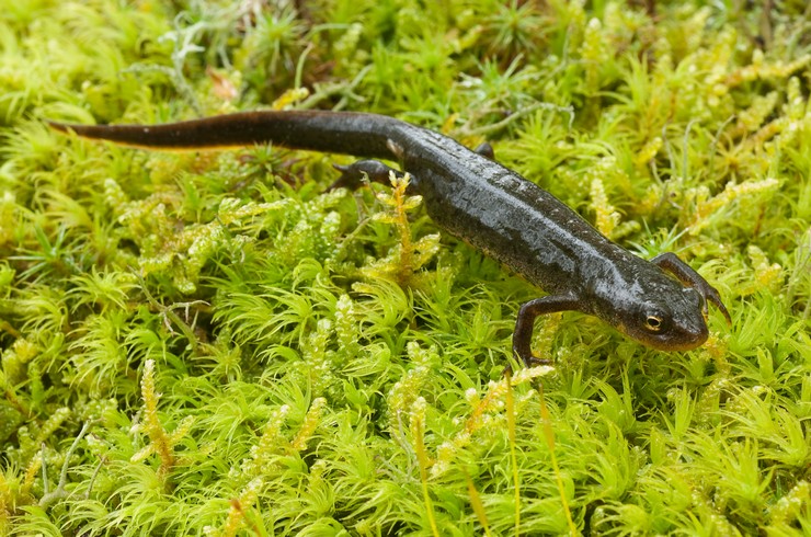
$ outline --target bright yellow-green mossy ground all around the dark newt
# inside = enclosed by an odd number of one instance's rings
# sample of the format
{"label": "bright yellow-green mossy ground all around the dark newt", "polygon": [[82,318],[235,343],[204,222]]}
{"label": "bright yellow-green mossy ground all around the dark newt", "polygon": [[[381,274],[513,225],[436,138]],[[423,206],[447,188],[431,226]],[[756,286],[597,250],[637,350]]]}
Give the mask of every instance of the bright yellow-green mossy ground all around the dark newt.
{"label": "bright yellow-green mossy ground all around the dark newt", "polygon": [[[808,535],[811,13],[772,3],[0,0],[0,535]],[[732,325],[546,319],[509,391],[538,292],[324,193],[346,159],[44,124],[269,106],[489,139]]]}

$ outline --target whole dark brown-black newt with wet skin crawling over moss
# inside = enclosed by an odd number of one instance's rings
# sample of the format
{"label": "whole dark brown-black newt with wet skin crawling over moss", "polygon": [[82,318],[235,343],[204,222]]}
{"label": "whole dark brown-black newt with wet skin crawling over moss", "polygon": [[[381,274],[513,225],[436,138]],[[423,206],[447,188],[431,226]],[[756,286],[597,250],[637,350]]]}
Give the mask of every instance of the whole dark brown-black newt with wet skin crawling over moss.
{"label": "whole dark brown-black newt with wet skin crawling over moss", "polygon": [[[672,253],[644,261],[603,237],[548,192],[438,133],[391,117],[338,112],[251,112],[169,125],[52,124],[80,136],[152,149],[273,142],[293,149],[399,160],[409,192],[452,235],[495,258],[550,295],[522,306],[513,351],[526,364],[538,315],[594,315],[654,349],[683,351],[707,340],[707,301],[729,321],[718,292]],[[365,160],[336,184],[363,175],[388,181],[389,168]],[[667,274],[670,273],[670,275]],[[677,278],[674,279],[672,276]],[[544,361],[540,361],[544,362]]]}

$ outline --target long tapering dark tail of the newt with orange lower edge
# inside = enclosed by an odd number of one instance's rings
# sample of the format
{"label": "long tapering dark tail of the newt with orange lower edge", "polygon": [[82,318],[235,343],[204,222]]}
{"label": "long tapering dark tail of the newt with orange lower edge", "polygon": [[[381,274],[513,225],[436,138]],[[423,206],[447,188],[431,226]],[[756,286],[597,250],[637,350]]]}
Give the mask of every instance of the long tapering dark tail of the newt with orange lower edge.
{"label": "long tapering dark tail of the newt with orange lower edge", "polygon": [[276,144],[290,149],[397,158],[391,136],[413,126],[378,114],[325,111],[264,111],[227,114],[164,125],[70,125],[73,132],[126,146],[149,149],[202,149]]}

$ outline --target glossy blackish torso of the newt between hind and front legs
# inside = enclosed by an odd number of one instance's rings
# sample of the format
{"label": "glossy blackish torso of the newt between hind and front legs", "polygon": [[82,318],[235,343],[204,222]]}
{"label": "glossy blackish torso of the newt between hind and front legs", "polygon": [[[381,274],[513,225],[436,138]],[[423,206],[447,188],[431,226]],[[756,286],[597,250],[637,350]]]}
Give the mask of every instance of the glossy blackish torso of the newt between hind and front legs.
{"label": "glossy blackish torso of the newt between hind and front legs", "polygon": [[422,144],[403,148],[403,160],[431,218],[544,290],[579,287],[584,263],[631,256],[536,184],[426,133],[419,137]]}

